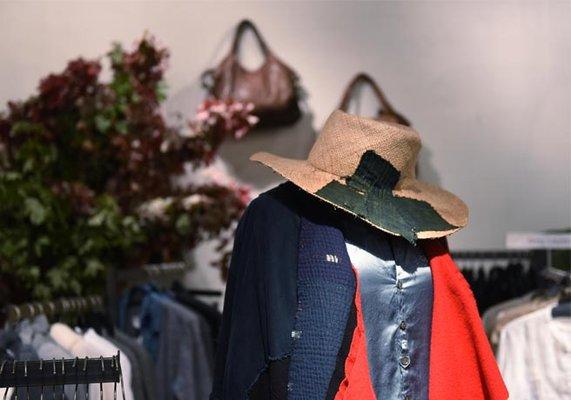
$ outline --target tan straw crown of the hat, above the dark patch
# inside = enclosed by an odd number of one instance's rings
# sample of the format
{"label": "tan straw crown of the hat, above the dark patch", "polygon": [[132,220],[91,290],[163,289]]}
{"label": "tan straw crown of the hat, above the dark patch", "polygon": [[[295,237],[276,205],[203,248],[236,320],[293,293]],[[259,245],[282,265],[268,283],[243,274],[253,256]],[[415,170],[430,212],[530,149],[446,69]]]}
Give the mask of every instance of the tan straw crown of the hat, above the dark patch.
{"label": "tan straw crown of the hat, above the dark patch", "polygon": [[374,151],[401,178],[414,178],[420,146],[420,136],[412,128],[337,110],[325,122],[308,161],[320,170],[347,177],[356,171],[365,152]]}

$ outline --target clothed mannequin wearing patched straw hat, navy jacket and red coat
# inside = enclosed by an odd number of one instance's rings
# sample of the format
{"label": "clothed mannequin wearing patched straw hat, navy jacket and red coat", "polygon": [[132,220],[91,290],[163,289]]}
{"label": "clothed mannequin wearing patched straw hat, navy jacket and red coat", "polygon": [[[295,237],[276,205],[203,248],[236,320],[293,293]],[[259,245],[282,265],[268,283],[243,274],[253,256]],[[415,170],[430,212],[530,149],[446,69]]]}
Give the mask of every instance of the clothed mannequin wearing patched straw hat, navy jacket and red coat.
{"label": "clothed mannequin wearing patched straw hat, navy jacket and red coat", "polygon": [[236,232],[211,399],[507,399],[412,129],[336,111]]}

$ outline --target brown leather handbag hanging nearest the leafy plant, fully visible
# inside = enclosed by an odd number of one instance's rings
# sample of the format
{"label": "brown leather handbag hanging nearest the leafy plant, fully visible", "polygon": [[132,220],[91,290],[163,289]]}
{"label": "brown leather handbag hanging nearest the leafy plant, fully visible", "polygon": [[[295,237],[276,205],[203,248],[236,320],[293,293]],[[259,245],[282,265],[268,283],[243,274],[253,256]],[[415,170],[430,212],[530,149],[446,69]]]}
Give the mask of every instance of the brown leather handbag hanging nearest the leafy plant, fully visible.
{"label": "brown leather handbag hanging nearest the leafy plant, fully visible", "polygon": [[[265,57],[264,64],[255,71],[245,69],[238,59],[240,41],[247,29],[254,33]],[[293,124],[301,116],[296,73],[270,50],[250,20],[238,24],[230,53],[218,67],[203,74],[202,82],[217,99],[252,103],[253,114],[260,119],[258,127]]]}

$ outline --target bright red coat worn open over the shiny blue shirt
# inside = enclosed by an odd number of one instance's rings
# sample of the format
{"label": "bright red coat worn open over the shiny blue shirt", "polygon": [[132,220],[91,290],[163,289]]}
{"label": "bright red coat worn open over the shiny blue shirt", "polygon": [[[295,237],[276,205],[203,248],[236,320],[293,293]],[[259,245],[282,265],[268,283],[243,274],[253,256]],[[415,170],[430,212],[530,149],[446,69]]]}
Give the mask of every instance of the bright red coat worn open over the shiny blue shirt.
{"label": "bright red coat worn open over the shiny blue shirt", "polygon": [[[423,247],[430,260],[434,287],[429,399],[507,399],[508,391],[470,287],[445,242],[424,241]],[[335,400],[385,400],[376,399],[370,380],[359,293],[357,287],[357,327],[345,362],[345,379]]]}

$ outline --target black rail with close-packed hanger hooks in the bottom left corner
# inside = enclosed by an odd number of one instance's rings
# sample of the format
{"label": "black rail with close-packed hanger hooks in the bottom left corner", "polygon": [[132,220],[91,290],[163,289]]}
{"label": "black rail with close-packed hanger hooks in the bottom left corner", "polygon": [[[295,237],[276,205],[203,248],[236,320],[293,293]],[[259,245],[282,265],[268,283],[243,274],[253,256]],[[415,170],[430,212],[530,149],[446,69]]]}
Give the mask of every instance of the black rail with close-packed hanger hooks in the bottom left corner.
{"label": "black rail with close-packed hanger hooks in the bottom left corner", "polygon": [[[0,365],[0,388],[118,383],[121,381],[119,358],[117,353],[113,357],[100,358],[5,360]],[[123,386],[122,381],[121,386]]]}

